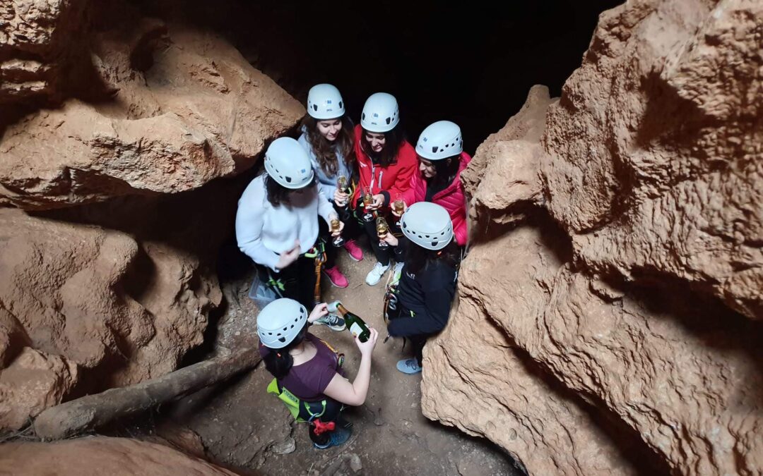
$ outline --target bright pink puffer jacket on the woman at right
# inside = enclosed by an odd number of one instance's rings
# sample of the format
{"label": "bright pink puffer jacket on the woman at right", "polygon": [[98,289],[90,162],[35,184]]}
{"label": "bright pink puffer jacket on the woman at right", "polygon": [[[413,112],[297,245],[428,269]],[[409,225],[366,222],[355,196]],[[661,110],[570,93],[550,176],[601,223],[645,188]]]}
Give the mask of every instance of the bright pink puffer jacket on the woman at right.
{"label": "bright pink puffer jacket on the woman at right", "polygon": [[[472,158],[466,153],[461,152],[461,165],[456,172],[456,178],[445,188],[435,193],[432,197],[432,203],[443,206],[450,213],[450,219],[453,222],[453,233],[456,235],[456,241],[464,246],[466,244],[466,197],[464,196],[464,187],[461,184],[461,172],[464,171]],[[403,194],[403,200],[407,206],[417,202],[423,202],[427,197],[427,180],[417,171],[410,177],[410,188]],[[394,197],[392,198],[394,200]]]}

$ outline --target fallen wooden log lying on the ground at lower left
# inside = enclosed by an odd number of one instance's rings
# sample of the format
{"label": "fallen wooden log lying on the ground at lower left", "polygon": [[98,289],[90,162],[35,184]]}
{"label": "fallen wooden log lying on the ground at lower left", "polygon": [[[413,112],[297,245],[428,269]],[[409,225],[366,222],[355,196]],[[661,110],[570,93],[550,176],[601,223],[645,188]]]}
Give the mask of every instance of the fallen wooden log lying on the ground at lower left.
{"label": "fallen wooden log lying on the ground at lower left", "polygon": [[239,372],[252,369],[259,361],[256,349],[243,350],[137,385],[77,398],[43,411],[34,420],[34,430],[44,439],[73,436],[230,379]]}

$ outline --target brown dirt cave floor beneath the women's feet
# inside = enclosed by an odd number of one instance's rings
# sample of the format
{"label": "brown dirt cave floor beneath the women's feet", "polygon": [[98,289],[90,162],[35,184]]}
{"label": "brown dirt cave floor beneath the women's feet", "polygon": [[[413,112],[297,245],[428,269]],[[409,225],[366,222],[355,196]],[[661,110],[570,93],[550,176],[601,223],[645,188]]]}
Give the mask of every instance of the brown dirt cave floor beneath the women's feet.
{"label": "brown dirt cave floor beneath the women's feet", "polygon": [[[272,377],[263,366],[223,388],[179,401],[163,411],[164,417],[183,431],[196,433],[208,458],[242,474],[521,474],[513,459],[491,442],[423,417],[421,374],[404,375],[395,369],[398,359],[410,355],[408,349],[403,353],[401,340],[381,343],[386,335],[381,317],[386,276],[377,286],[365,284],[365,274],[375,262],[365,253],[365,259],[356,263],[340,251],[348,288],[337,289],[323,281],[325,300],[340,299],[380,331],[369,396],[362,407],[346,411],[353,422],[349,442],[314,449],[304,423],[295,423],[284,404],[266,393]],[[214,336],[218,351],[220,346],[256,345],[258,310],[247,296],[251,279],[250,272],[224,283],[228,307]],[[313,326],[311,332],[346,354],[345,368],[353,379],[360,355],[349,332],[324,326]]]}

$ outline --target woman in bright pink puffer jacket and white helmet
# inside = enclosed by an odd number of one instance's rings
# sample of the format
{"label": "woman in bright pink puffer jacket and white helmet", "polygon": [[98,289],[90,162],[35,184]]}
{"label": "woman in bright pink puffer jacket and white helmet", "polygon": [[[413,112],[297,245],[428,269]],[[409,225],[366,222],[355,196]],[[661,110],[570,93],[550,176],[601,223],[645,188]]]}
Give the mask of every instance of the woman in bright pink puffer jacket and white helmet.
{"label": "woman in bright pink puffer jacket and white helmet", "polygon": [[[403,193],[406,206],[432,202],[443,206],[453,222],[453,234],[459,246],[466,245],[466,199],[461,172],[472,158],[464,151],[461,128],[449,120],[440,120],[424,129],[416,143],[419,172],[410,177]],[[394,200],[394,198],[393,198]],[[393,214],[399,216],[397,213]]]}

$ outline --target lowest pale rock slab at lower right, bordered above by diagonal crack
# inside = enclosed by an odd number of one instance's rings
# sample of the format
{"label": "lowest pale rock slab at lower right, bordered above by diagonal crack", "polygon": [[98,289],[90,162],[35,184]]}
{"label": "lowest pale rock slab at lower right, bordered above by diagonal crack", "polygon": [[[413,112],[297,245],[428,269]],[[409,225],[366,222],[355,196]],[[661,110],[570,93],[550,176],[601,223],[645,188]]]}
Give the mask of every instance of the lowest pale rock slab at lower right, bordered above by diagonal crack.
{"label": "lowest pale rock slab at lower right, bordered above by diagonal crack", "polygon": [[424,348],[427,417],[491,439],[530,474],[637,474],[586,407],[529,370],[485,311],[462,300],[452,317]]}

